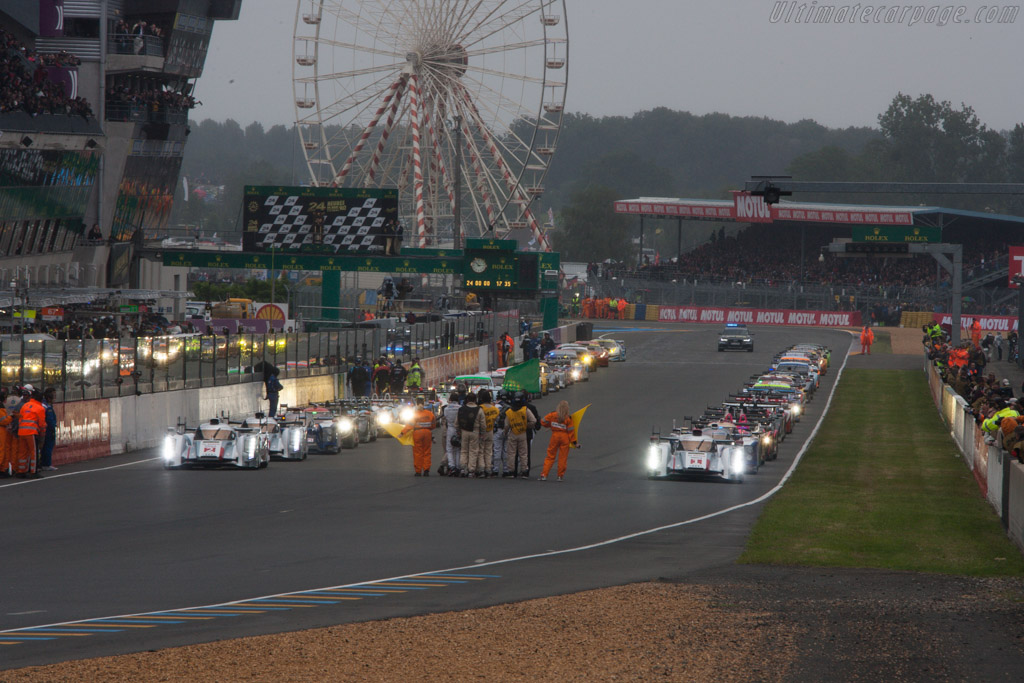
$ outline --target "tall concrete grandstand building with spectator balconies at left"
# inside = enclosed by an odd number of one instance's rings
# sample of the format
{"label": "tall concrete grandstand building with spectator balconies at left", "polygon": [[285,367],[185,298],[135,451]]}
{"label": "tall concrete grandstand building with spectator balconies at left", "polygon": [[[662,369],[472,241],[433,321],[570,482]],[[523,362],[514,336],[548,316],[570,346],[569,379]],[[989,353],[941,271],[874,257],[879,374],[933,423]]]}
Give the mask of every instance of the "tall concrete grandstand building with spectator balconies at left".
{"label": "tall concrete grandstand building with spectator balconies at left", "polygon": [[166,227],[213,24],[241,4],[0,0],[0,299],[184,289],[134,250]]}

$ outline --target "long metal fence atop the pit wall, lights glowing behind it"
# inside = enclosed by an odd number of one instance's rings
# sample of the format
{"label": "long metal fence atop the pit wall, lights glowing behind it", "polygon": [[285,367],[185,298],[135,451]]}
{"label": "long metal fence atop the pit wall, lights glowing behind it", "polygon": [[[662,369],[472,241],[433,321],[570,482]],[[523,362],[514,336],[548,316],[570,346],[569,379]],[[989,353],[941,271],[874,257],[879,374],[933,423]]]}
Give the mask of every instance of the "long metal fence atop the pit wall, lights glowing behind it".
{"label": "long metal fence atop the pit wall, lights glowing behind it", "polygon": [[518,319],[486,314],[382,329],[317,333],[193,335],[68,341],[0,341],[5,386],[53,387],[57,400],[129,396],[263,380],[264,362],[282,379],[345,373],[356,357],[401,361],[493,342]]}

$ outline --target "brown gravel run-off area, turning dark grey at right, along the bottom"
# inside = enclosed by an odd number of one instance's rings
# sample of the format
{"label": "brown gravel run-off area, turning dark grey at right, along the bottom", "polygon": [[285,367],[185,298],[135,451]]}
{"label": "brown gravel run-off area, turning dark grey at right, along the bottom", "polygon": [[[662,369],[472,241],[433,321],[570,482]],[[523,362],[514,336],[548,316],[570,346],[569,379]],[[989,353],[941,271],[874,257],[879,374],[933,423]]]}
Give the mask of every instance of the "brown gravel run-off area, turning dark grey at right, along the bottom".
{"label": "brown gravel run-off area, turning dark grey at right, along the bottom", "polygon": [[1024,583],[705,579],[0,672],[0,681],[1019,681]]}

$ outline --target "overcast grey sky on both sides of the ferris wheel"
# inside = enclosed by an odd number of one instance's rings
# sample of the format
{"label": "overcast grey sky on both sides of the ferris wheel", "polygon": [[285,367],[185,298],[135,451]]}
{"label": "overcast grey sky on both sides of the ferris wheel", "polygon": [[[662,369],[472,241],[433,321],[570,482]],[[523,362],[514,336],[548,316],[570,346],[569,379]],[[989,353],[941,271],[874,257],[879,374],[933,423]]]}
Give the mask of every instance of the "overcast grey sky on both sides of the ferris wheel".
{"label": "overcast grey sky on both sides of the ferris wheel", "polygon": [[[1018,5],[942,5],[951,9],[929,23],[924,9],[931,3],[887,5],[882,13],[867,3],[808,0],[807,8],[836,13],[828,23],[819,13],[798,24],[803,2],[566,4],[570,112],[632,115],[668,106],[873,126],[903,91],[966,102],[996,129],[1024,121],[1024,11],[1010,24],[975,22],[981,7]],[[848,13],[840,14],[844,7]],[[939,26],[943,16],[948,23]],[[244,0],[238,22],[218,22],[197,88],[204,104],[194,118],[290,125],[294,22],[295,0]]]}

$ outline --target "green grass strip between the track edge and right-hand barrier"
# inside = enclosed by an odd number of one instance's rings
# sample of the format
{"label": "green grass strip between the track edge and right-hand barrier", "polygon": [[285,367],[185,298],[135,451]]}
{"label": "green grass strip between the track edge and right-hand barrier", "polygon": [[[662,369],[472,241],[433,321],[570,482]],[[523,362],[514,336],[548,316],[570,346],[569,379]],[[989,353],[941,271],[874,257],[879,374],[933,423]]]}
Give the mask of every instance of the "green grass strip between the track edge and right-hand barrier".
{"label": "green grass strip between the track edge and right-hand barrier", "polygon": [[846,371],[739,561],[1024,577],[921,371]]}

